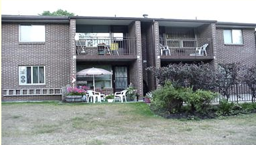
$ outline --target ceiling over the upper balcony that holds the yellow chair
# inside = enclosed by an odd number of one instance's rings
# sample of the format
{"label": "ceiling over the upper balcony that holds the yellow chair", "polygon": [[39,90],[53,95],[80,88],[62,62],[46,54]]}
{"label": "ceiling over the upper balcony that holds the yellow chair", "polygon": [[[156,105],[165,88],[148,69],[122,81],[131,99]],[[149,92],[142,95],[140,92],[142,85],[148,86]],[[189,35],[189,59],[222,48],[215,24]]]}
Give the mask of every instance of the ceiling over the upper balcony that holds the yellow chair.
{"label": "ceiling over the upper balcony that holds the yellow chair", "polygon": [[132,20],[77,19],[76,24],[129,25]]}

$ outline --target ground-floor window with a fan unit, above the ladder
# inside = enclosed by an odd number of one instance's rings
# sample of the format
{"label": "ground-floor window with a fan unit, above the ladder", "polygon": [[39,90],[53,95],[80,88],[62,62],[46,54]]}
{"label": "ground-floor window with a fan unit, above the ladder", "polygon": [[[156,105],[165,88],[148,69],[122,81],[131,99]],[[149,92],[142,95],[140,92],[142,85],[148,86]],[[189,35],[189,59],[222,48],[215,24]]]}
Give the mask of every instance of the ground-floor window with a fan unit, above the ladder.
{"label": "ground-floor window with a fan unit, above the ladder", "polygon": [[19,66],[19,85],[45,84],[45,66]]}

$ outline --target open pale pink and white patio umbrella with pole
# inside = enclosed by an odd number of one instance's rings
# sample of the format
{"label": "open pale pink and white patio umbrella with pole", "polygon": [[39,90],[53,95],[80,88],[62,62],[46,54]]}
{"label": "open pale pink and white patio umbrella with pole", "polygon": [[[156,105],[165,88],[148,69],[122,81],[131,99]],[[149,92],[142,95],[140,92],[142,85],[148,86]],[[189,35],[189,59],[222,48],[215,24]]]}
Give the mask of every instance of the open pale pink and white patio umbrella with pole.
{"label": "open pale pink and white patio umbrella with pole", "polygon": [[94,75],[112,75],[112,72],[108,72],[102,68],[87,68],[85,70],[81,70],[80,72],[76,73],[76,75],[92,75],[93,77],[93,91],[95,91],[95,80]]}

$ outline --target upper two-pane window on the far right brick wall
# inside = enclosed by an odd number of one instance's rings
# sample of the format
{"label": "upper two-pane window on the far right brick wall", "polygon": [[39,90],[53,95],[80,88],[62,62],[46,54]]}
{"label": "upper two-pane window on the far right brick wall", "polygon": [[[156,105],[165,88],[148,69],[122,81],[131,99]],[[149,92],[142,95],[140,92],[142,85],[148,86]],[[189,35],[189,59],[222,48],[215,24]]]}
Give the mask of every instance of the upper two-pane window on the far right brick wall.
{"label": "upper two-pane window on the far right brick wall", "polygon": [[223,30],[225,44],[243,44],[243,36],[241,30]]}

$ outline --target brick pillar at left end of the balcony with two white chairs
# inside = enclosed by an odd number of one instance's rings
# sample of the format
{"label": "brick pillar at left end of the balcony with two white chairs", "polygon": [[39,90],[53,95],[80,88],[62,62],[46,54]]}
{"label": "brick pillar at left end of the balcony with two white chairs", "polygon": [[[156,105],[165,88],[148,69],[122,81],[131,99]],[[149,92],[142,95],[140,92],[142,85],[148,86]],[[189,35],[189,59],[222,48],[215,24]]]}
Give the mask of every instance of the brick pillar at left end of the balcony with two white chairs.
{"label": "brick pillar at left end of the balcony with two white chairs", "polygon": [[[161,59],[160,59],[160,44],[159,44],[159,25],[158,22],[154,22],[154,48],[155,48],[155,60],[156,60],[156,68],[160,68],[161,67]],[[158,89],[160,87],[160,85],[158,85],[159,80],[156,79],[156,89]]]}

